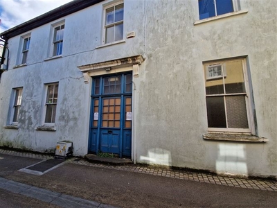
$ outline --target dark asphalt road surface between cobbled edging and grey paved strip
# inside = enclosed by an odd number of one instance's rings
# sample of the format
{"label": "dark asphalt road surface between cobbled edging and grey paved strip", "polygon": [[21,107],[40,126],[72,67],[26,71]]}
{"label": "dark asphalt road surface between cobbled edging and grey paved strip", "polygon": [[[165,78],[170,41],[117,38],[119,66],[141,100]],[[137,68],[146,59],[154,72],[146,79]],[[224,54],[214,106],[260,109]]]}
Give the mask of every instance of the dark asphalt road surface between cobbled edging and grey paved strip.
{"label": "dark asphalt road surface between cobbled edging and grey paved strip", "polygon": [[277,207],[276,191],[77,164],[64,164],[39,176],[17,171],[38,159],[1,154],[0,158],[0,177],[116,207]]}

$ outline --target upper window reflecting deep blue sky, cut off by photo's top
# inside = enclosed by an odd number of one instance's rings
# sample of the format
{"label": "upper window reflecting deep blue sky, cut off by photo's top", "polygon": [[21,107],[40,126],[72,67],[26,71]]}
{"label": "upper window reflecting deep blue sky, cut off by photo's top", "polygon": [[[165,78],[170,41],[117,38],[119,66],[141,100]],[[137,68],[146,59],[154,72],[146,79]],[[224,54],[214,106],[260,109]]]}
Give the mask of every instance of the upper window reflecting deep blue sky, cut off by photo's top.
{"label": "upper window reflecting deep blue sky, cut off by photo's top", "polygon": [[238,10],[238,0],[199,0],[199,19],[215,17]]}

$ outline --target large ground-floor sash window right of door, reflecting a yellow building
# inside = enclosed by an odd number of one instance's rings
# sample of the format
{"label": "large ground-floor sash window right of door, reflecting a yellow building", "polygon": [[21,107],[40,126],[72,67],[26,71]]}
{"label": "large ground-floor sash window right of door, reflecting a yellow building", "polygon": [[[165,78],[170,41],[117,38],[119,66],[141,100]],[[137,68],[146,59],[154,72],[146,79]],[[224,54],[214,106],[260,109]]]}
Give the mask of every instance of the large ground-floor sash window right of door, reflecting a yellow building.
{"label": "large ground-floor sash window right of door, reflecting a yellow building", "polygon": [[251,132],[245,60],[208,63],[204,70],[208,130]]}

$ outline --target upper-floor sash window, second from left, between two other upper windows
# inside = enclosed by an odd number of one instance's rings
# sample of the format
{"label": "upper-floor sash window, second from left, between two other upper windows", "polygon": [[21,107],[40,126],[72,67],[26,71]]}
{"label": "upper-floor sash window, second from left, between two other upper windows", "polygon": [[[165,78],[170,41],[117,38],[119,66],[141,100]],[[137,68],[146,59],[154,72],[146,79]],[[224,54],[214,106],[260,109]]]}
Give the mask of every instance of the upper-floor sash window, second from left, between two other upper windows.
{"label": "upper-floor sash window, second from left, between two other upper windows", "polygon": [[62,54],[62,43],[64,41],[64,24],[54,28],[53,56]]}

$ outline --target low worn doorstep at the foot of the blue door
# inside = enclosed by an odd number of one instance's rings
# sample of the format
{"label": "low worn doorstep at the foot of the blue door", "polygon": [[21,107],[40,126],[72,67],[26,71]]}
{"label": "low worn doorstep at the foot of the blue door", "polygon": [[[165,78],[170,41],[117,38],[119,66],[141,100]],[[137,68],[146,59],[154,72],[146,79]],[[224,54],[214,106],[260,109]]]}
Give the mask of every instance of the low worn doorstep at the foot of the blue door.
{"label": "low worn doorstep at the foot of the blue door", "polygon": [[93,154],[84,155],[84,158],[87,159],[88,162],[111,164],[111,165],[125,165],[125,164],[133,163],[131,159],[127,159],[127,158],[99,157],[98,155],[93,155]]}

